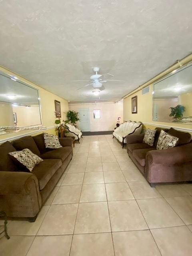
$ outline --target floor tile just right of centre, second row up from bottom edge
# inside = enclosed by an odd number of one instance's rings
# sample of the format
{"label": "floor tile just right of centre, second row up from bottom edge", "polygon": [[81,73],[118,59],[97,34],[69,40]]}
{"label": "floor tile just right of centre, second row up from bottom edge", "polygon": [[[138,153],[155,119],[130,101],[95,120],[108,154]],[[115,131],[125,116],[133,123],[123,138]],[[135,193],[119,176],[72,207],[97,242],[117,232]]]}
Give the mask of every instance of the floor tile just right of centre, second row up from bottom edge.
{"label": "floor tile just right of centre, second row up from bottom edge", "polygon": [[108,206],[112,232],[148,229],[135,200],[110,201]]}

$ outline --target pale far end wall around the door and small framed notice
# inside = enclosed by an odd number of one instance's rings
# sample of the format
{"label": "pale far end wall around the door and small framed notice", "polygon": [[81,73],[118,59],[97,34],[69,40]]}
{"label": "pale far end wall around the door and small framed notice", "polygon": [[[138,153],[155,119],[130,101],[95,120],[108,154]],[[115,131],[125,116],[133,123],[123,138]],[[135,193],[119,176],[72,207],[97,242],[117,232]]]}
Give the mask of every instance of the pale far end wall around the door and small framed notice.
{"label": "pale far end wall around the door and small framed notice", "polygon": [[[120,116],[123,120],[123,103],[122,102],[105,102],[95,104],[77,104],[69,105],[70,110],[79,112],[81,108],[88,108],[90,115],[90,131],[112,131],[116,127],[117,118]],[[93,118],[93,110],[101,110],[101,118]],[[77,123],[80,128],[80,123]]]}

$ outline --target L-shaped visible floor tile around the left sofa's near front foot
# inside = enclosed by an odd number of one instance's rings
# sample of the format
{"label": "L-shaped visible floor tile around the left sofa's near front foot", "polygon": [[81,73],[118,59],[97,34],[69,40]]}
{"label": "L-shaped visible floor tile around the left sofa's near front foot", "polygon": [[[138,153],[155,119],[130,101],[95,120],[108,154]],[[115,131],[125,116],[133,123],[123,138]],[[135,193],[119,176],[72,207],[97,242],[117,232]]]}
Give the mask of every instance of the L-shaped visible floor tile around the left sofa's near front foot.
{"label": "L-shaped visible floor tile around the left sofa's near front foot", "polygon": [[8,234],[10,236],[35,236],[49,207],[49,205],[42,206],[35,222],[29,222],[28,220],[12,220],[8,225]]}

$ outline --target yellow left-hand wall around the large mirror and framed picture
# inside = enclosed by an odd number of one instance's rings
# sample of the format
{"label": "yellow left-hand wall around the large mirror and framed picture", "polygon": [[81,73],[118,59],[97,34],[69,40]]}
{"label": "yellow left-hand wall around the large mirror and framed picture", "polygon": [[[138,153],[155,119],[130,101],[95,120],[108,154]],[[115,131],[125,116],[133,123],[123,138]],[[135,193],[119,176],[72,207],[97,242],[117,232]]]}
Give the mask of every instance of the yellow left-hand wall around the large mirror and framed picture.
{"label": "yellow left-hand wall around the large mirror and framed picture", "polygon": [[[65,119],[64,112],[68,111],[68,101],[64,100],[64,98],[61,98],[51,92],[48,92],[47,90],[41,88],[40,86],[34,84],[33,82],[30,82],[26,80],[25,78],[22,78],[18,74],[13,73],[12,71],[3,68],[0,66],[0,70],[10,74],[12,76],[16,76],[18,79],[22,80],[25,83],[30,84],[31,86],[37,88],[39,90],[39,96],[40,96],[40,104],[41,104],[41,113],[42,113],[42,125],[46,126],[49,130],[47,132],[55,134],[55,105],[54,100],[58,100],[61,102],[61,113],[62,113],[62,120]],[[26,130],[26,131],[19,131],[19,132],[12,132],[8,134],[0,135],[0,142],[1,140],[11,140],[11,138],[14,139],[15,136],[22,135],[22,134],[28,134],[32,132],[32,130]]]}

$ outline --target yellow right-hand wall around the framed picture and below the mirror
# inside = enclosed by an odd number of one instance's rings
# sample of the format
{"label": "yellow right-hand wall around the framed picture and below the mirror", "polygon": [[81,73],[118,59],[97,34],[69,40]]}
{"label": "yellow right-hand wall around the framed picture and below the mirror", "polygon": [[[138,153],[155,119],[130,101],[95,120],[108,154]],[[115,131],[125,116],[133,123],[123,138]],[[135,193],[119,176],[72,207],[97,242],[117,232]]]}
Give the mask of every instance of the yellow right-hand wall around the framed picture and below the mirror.
{"label": "yellow right-hand wall around the framed picture and below the mirror", "polygon": [[[179,124],[179,123],[170,123],[170,122],[157,122],[153,121],[153,84],[150,85],[150,92],[142,95],[142,90],[133,93],[124,99],[124,121],[126,120],[134,120],[140,121],[144,124],[144,128],[155,128],[156,126],[168,126],[175,127],[181,129],[190,129],[192,133],[192,125],[191,124]],[[138,96],[138,114],[131,113],[131,98],[134,96]],[[147,124],[146,124],[147,123]]]}

